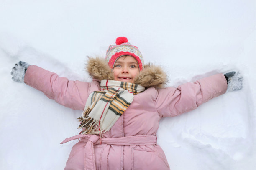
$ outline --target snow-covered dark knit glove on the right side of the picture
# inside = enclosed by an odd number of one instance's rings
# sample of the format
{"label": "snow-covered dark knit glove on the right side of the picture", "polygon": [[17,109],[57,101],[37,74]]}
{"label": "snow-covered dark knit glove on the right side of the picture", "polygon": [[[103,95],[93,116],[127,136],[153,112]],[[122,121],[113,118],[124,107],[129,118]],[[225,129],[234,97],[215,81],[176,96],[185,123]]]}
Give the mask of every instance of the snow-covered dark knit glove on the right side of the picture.
{"label": "snow-covered dark knit glove on the right side of the picture", "polygon": [[225,75],[225,78],[228,83],[227,91],[237,91],[243,88],[243,76],[240,72],[228,72]]}

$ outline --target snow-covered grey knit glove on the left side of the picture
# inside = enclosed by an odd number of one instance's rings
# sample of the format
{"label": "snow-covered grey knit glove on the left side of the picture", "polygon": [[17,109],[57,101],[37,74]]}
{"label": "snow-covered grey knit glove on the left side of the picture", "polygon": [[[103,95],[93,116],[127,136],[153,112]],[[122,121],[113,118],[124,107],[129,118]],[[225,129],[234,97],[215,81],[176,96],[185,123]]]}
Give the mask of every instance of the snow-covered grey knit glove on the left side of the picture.
{"label": "snow-covered grey knit glove on the left side of the picture", "polygon": [[24,82],[24,76],[28,66],[30,65],[23,61],[16,63],[11,72],[11,75],[13,76],[12,80],[16,82]]}

